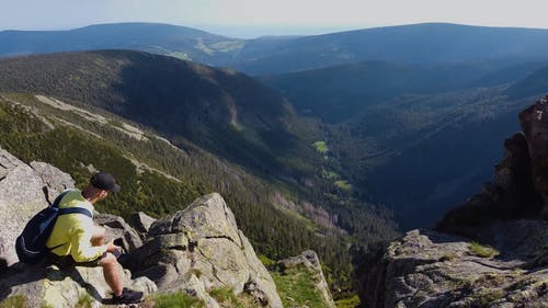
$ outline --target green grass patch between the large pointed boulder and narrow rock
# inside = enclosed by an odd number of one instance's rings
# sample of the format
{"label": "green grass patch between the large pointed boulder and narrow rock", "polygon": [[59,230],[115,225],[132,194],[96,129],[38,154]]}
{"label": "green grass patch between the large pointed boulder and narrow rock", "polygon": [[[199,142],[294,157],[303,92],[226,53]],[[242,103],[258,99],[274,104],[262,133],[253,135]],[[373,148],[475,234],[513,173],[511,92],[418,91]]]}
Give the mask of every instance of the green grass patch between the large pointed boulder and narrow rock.
{"label": "green grass patch between the large pointed boulder and narrow rock", "polygon": [[284,307],[328,307],[316,288],[316,274],[306,266],[271,272]]}

